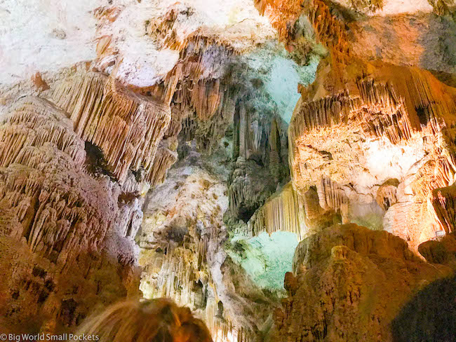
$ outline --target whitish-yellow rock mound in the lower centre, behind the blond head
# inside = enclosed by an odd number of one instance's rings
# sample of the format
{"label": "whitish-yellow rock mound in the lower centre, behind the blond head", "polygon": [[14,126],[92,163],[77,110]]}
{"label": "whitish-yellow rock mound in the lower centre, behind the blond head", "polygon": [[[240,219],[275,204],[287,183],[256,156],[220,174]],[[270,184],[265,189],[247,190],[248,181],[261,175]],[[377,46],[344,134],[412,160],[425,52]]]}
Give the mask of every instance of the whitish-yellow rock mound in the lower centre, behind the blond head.
{"label": "whitish-yellow rock mound in the lower centre, behind the blond head", "polygon": [[140,288],[148,298],[169,296],[192,308],[216,341],[254,341],[274,304],[223,249],[228,198],[220,176],[191,150],[149,193],[137,238]]}

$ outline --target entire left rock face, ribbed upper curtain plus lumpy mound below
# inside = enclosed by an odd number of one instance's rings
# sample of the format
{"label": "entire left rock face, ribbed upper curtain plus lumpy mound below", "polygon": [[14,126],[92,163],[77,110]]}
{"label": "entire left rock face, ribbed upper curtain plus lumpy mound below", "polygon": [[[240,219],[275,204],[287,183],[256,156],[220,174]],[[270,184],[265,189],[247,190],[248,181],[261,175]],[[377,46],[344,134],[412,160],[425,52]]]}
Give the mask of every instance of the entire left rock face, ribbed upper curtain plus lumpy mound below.
{"label": "entire left rock face, ribbed upper curtain plus lumpy mound below", "polygon": [[100,74],[53,87],[54,103],[23,97],[0,128],[0,308],[15,329],[72,327],[139,294],[142,195],[176,159],[166,104]]}

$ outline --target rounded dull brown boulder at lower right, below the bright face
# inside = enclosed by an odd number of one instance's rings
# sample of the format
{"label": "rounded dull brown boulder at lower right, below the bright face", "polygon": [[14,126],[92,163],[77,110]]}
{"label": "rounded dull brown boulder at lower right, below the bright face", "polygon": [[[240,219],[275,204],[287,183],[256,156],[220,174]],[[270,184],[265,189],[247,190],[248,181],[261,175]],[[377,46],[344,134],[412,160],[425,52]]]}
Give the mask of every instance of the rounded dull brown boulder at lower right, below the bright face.
{"label": "rounded dull brown boulder at lower right, below the bright face", "polygon": [[396,341],[391,321],[401,307],[451,273],[417,259],[401,238],[356,224],[310,235],[293,263],[272,341]]}

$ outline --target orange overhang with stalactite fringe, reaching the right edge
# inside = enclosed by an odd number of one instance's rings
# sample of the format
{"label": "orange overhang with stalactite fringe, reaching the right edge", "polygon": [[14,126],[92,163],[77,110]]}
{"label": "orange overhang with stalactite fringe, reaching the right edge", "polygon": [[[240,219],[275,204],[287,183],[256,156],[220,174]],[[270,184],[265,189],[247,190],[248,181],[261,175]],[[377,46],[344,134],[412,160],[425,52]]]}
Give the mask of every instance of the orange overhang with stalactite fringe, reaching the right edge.
{"label": "orange overhang with stalactite fringe, reaching the right edge", "polygon": [[[314,101],[301,99],[288,128],[290,164],[294,165],[298,157],[297,146],[302,137],[314,130],[344,126],[359,130],[366,137],[386,137],[398,144],[423,127],[436,133],[450,125],[446,122],[451,122],[456,112],[454,92],[427,71],[402,69],[379,69],[380,81],[357,81],[354,94],[344,90]],[[381,81],[387,76],[391,76],[388,82]]]}

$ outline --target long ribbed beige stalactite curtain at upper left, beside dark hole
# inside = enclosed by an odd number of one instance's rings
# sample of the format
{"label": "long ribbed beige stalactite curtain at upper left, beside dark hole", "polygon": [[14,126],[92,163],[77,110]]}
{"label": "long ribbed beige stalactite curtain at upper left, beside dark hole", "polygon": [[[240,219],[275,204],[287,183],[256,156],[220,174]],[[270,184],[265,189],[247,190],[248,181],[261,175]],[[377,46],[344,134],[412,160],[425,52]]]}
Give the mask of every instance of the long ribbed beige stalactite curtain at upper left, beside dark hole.
{"label": "long ribbed beige stalactite curtain at upper left, beside dark hole", "polygon": [[81,139],[100,147],[110,172],[123,183],[128,170],[154,177],[156,151],[168,123],[167,104],[126,90],[114,78],[88,73],[54,86],[51,98],[70,114]]}

